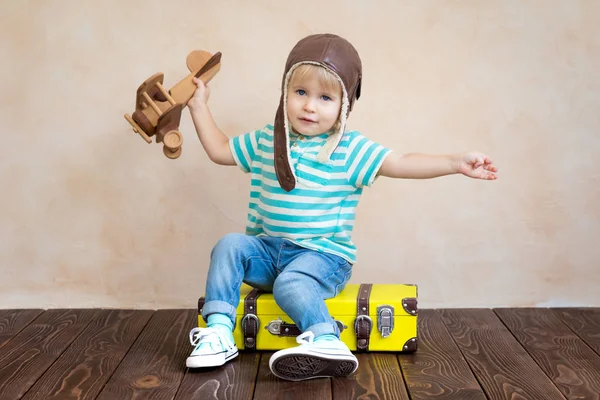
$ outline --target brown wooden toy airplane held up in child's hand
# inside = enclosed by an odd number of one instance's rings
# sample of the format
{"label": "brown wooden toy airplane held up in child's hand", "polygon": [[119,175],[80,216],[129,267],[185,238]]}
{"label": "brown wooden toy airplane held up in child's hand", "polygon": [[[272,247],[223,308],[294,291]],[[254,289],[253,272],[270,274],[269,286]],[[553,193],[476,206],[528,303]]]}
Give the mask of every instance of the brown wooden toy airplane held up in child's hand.
{"label": "brown wooden toy airplane held up in child's hand", "polygon": [[183,136],[179,132],[181,112],[194,95],[196,84],[192,80],[199,78],[208,83],[221,69],[221,53],[210,54],[195,50],[188,54],[186,64],[190,74],[179,81],[169,91],[162,83],[162,72],[152,75],[140,85],[135,99],[135,111],[125,119],[133,131],[148,143],[156,136],[156,143],[163,143],[163,153],[168,158],[181,155]]}

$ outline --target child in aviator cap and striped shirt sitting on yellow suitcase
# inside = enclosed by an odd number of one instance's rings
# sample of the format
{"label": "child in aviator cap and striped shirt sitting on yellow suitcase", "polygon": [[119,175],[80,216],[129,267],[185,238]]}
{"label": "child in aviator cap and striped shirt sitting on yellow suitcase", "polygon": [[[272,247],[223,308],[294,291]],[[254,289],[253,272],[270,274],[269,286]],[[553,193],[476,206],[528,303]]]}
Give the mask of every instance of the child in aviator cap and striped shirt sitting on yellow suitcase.
{"label": "child in aviator cap and striped shirt sitting on yellow suitcase", "polygon": [[271,357],[273,374],[288,380],[352,374],[358,361],[339,340],[324,300],[350,279],[356,261],[351,233],[363,188],[379,175],[496,179],[496,167],[481,153],[396,155],[359,132],[346,132],[361,76],[361,60],[348,41],[308,36],[286,62],[274,126],[231,140],[211,116],[209,89],[195,81],[188,106],[200,142],[213,162],[251,173],[251,189],[246,233],[226,235],[211,253],[202,311],[207,328],[190,332],[195,348],[188,367],[223,365],[237,356],[232,330],[245,282],[273,292],[302,331],[298,347]]}

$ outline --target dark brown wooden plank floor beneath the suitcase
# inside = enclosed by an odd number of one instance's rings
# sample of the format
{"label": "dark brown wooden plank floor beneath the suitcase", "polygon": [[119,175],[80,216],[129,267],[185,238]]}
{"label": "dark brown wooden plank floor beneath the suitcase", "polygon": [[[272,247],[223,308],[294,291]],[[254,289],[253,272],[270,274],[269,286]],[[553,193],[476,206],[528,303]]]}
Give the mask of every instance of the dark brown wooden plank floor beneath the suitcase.
{"label": "dark brown wooden plank floor beneath the suitcase", "polygon": [[600,309],[419,312],[419,350],[287,382],[272,353],[187,370],[195,310],[0,310],[0,399],[600,399]]}

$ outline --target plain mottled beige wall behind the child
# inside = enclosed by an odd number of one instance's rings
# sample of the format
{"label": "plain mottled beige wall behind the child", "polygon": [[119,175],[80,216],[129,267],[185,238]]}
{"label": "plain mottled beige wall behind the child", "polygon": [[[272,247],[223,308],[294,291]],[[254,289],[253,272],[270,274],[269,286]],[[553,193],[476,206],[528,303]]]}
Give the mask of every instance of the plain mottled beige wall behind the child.
{"label": "plain mottled beige wall behind the child", "polygon": [[323,31],[363,59],[351,128],[500,168],[380,179],[352,282],[417,283],[422,307],[600,306],[600,2],[289,4],[0,0],[0,308],[194,307],[212,246],[243,231],[248,176],[211,164],[187,109],[176,161],[123,114],[206,49],[221,128],[261,127],[290,48]]}

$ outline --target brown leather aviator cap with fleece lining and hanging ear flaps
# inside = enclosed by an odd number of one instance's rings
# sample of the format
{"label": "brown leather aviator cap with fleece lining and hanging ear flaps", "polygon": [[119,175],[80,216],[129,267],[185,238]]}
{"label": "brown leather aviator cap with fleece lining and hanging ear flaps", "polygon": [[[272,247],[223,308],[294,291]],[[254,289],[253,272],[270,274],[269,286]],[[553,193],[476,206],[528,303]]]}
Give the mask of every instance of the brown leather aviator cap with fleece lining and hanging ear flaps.
{"label": "brown leather aviator cap with fleece lining and hanging ear flaps", "polygon": [[342,89],[344,93],[342,110],[346,110],[346,112],[340,115],[342,124],[334,148],[341,140],[346,125],[345,122],[354,106],[354,101],[360,97],[362,63],[358,52],[350,42],[340,36],[325,33],[307,36],[294,46],[285,64],[281,98],[275,114],[274,126],[275,172],[279,185],[288,192],[296,186],[296,178],[290,168],[284,96],[286,95],[286,85],[289,82],[290,72],[295,66],[305,63],[322,65],[336,74],[344,85]]}

